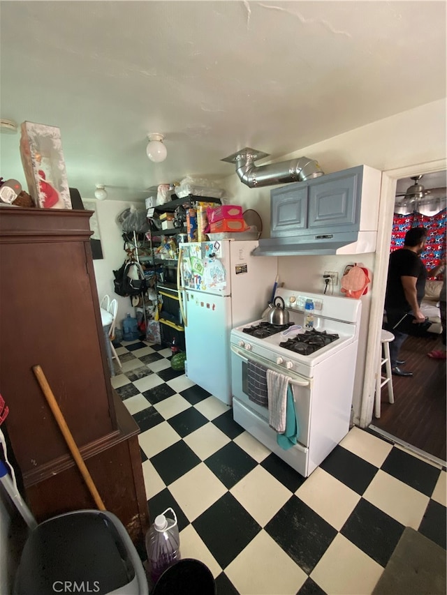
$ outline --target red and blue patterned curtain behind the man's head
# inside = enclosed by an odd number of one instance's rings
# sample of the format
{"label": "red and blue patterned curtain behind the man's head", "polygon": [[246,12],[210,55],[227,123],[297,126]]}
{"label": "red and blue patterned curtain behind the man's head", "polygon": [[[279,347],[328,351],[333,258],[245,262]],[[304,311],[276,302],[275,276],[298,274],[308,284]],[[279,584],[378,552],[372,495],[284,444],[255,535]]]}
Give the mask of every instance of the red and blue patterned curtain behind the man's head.
{"label": "red and blue patterned curtain behind the man's head", "polygon": [[390,252],[404,246],[405,234],[410,227],[425,227],[428,232],[427,244],[420,257],[427,270],[430,271],[446,257],[446,218],[447,209],[439,211],[432,217],[418,213],[418,211],[413,211],[409,215],[395,213]]}

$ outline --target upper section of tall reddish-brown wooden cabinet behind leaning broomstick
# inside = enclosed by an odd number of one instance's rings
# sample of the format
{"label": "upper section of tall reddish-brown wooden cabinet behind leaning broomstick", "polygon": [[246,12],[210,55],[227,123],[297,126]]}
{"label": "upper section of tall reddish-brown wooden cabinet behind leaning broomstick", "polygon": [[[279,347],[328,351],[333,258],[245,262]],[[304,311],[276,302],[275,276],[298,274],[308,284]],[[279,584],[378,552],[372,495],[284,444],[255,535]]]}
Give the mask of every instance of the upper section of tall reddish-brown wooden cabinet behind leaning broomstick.
{"label": "upper section of tall reddish-brown wooden cabinet behind leaning broomstick", "polygon": [[34,377],[37,364],[79,447],[116,428],[89,213],[27,211],[0,218],[1,393],[22,474],[67,452]]}

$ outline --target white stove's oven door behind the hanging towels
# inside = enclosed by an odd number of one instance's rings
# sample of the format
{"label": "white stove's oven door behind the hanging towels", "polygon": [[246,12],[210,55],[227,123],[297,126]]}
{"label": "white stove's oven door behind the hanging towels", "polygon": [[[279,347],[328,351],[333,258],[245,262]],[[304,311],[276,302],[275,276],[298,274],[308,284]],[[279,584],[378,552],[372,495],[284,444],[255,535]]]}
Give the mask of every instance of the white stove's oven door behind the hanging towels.
{"label": "white stove's oven door behind the hanging towels", "polygon": [[[231,376],[232,376],[232,388],[233,397],[242,402],[242,404],[253,411],[256,416],[261,418],[268,425],[268,407],[258,405],[258,403],[249,399],[248,395],[248,363],[252,361],[258,363],[265,368],[275,370],[288,377],[289,382],[293,388],[293,399],[295,401],[295,412],[298,419],[298,448],[305,447],[307,450],[309,446],[309,428],[310,428],[310,417],[311,417],[311,394],[312,394],[312,379],[305,378],[285,370],[280,366],[276,366],[274,363],[262,356],[248,354],[246,351],[242,351],[235,345],[231,345]],[[274,430],[272,429],[272,432]],[[276,433],[276,432],[274,432]]]}

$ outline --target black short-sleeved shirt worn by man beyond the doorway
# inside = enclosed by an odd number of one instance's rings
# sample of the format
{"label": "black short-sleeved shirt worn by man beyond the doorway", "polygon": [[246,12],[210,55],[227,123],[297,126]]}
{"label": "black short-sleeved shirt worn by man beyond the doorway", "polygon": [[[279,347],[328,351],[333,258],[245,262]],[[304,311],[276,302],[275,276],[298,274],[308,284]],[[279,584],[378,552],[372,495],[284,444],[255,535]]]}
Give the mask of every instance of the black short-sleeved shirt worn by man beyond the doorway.
{"label": "black short-sleeved shirt worn by man beyond the doorway", "polygon": [[401,277],[416,277],[416,293],[420,306],[425,293],[427,269],[425,269],[422,260],[413,250],[400,248],[400,250],[395,250],[390,254],[385,296],[385,309],[392,308],[409,312],[411,306],[406,301]]}

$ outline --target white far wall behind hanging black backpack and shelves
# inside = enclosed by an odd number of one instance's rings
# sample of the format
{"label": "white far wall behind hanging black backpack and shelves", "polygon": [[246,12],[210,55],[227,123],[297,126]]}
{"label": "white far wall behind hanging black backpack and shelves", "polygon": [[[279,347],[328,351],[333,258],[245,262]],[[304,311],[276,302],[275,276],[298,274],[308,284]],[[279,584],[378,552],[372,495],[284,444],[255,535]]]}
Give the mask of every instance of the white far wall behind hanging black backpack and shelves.
{"label": "white far wall behind hanging black backpack and shelves", "polygon": [[127,312],[135,316],[135,310],[131,306],[130,298],[124,298],[117,294],[113,289],[113,271],[119,269],[124,262],[126,253],[124,252],[124,240],[122,239],[122,229],[115,223],[115,218],[124,209],[129,209],[132,204],[137,209],[144,209],[144,203],[135,203],[124,200],[94,200],[96,202],[96,213],[98,218],[99,233],[101,234],[101,246],[103,248],[103,259],[93,261],[96,277],[96,287],[98,287],[99,300],[108,294],[110,298],[116,298],[118,301],[117,326],[121,326],[122,319]]}

